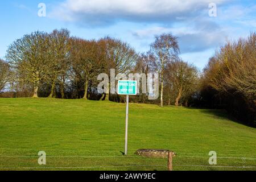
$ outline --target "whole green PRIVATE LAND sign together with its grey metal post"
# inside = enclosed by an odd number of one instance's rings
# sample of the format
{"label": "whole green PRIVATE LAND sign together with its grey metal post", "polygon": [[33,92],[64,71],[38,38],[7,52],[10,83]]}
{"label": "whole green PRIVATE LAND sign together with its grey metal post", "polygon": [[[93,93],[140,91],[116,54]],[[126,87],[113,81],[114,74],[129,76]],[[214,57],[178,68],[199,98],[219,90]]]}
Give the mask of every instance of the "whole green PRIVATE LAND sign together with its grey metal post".
{"label": "whole green PRIVATE LAND sign together with its grey metal post", "polygon": [[137,81],[119,80],[118,94],[126,95],[126,119],[125,119],[125,155],[128,146],[128,121],[129,121],[129,95],[137,95]]}

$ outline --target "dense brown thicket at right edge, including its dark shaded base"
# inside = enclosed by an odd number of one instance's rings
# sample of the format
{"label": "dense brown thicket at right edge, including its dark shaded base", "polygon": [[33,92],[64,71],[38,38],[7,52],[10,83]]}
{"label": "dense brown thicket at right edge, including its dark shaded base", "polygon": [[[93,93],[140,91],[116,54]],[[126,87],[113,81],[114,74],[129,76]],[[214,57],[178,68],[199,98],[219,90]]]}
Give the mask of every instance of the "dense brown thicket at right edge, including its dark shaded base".
{"label": "dense brown thicket at right edge, including its dark shaded base", "polygon": [[256,122],[256,34],[228,42],[210,58],[201,79],[200,104],[224,107],[250,125]]}

